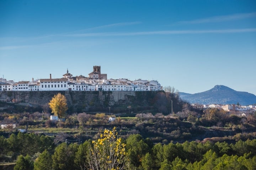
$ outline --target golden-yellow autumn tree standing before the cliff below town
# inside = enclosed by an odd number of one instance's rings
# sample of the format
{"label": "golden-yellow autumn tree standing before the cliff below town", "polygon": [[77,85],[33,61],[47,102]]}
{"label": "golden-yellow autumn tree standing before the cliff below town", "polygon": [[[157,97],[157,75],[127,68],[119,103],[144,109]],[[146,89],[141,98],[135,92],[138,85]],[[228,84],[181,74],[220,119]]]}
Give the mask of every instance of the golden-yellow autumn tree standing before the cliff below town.
{"label": "golden-yellow autumn tree standing before the cliff below town", "polygon": [[54,95],[52,100],[49,102],[49,106],[52,109],[52,113],[58,115],[58,117],[64,117],[68,106],[66,103],[66,97],[60,93]]}

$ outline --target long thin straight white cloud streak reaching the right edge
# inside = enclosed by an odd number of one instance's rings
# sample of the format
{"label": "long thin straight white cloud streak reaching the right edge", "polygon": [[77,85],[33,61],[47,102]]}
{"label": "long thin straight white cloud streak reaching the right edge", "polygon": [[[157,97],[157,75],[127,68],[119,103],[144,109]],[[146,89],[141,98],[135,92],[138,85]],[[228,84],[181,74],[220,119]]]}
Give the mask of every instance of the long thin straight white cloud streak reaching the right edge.
{"label": "long thin straight white cloud streak reaching the right edge", "polygon": [[85,33],[85,34],[68,34],[65,36],[86,37],[86,36],[133,36],[133,35],[168,35],[168,34],[206,34],[206,33],[247,33],[256,32],[256,28],[248,29],[220,29],[220,30],[166,30],[166,31],[149,31],[149,32],[127,32],[127,33]]}

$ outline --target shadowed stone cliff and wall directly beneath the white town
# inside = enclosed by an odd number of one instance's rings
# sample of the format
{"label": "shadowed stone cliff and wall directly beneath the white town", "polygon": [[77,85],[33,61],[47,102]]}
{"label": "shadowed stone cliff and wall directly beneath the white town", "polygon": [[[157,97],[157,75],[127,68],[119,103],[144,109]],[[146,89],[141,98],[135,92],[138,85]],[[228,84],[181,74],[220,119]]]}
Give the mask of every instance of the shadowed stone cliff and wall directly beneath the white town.
{"label": "shadowed stone cliff and wall directly beneath the white town", "polygon": [[135,104],[150,106],[157,91],[0,91],[0,100],[25,103],[32,107],[47,106],[52,97],[65,95],[70,112],[106,110],[108,107]]}

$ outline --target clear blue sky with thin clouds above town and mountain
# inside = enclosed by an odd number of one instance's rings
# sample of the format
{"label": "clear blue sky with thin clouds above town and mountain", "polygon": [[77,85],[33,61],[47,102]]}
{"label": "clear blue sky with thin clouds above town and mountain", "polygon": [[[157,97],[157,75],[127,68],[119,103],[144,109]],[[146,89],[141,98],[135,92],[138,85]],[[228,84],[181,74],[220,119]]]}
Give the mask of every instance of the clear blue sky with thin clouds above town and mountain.
{"label": "clear blue sky with thin clouds above town and mountain", "polygon": [[158,80],[256,95],[256,1],[0,0],[0,77]]}

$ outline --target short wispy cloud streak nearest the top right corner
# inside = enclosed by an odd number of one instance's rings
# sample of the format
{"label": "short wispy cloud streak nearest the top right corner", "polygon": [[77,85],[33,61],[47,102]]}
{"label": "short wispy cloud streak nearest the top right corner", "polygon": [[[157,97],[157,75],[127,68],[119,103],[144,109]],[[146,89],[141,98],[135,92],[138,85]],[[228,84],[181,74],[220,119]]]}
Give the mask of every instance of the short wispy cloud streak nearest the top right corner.
{"label": "short wispy cloud streak nearest the top right corner", "polygon": [[209,18],[195,19],[190,21],[180,21],[176,24],[200,24],[200,23],[215,23],[215,22],[224,22],[224,21],[234,21],[239,19],[246,19],[256,17],[256,12],[251,13],[237,13],[233,15],[223,15],[223,16],[215,16]]}

